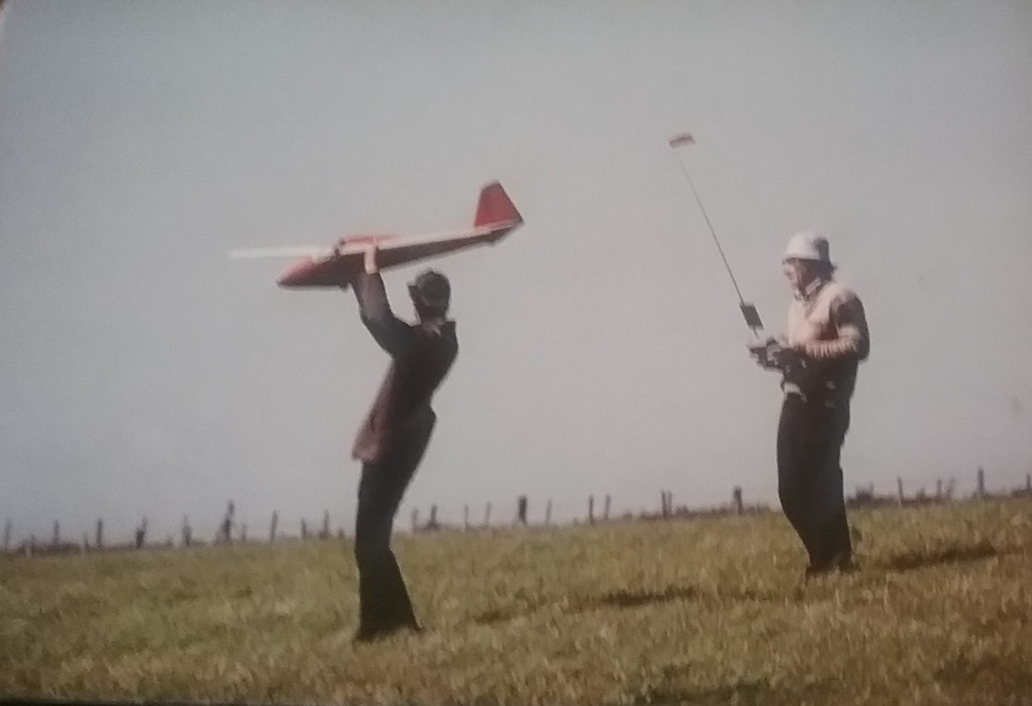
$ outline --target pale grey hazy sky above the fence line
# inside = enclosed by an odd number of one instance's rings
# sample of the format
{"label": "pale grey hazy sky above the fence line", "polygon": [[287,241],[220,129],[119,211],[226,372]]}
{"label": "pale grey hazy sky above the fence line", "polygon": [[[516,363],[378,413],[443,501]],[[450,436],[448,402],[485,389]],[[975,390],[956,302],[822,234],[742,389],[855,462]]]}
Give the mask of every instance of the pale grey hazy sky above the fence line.
{"label": "pale grey hazy sky above the fence line", "polygon": [[[525,225],[433,264],[460,351],[398,526],[776,506],[770,333],[815,229],[871,356],[848,492],[1032,471],[1032,4],[9,0],[0,40],[0,519],[15,538],[351,532],[388,359],[350,293],[230,249]],[[394,310],[423,265],[385,274]]]}

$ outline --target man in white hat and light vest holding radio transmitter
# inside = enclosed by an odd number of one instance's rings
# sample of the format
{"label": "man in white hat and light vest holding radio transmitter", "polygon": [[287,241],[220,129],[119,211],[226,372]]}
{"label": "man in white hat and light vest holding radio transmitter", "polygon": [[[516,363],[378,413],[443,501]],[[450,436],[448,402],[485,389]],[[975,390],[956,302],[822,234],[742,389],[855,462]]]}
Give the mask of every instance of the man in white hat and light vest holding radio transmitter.
{"label": "man in white hat and light vest holding radio transmitter", "polygon": [[826,238],[797,233],[782,264],[795,296],[785,334],[750,350],[762,366],[782,373],[778,496],[809,554],[806,575],[812,576],[852,567],[839,459],[870,337],[860,298],[833,279]]}

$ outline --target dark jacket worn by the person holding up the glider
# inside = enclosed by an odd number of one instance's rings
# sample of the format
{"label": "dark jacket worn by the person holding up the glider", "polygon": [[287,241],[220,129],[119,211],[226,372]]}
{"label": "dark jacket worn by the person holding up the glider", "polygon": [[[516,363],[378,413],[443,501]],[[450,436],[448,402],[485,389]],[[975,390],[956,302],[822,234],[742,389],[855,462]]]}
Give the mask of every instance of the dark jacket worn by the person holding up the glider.
{"label": "dark jacket worn by the person holding up the glider", "polygon": [[379,274],[360,273],[353,284],[362,323],[392,359],[351,451],[376,463],[410,434],[432,427],[430,400],[455,362],[458,340],[453,321],[408,324],[396,317]]}

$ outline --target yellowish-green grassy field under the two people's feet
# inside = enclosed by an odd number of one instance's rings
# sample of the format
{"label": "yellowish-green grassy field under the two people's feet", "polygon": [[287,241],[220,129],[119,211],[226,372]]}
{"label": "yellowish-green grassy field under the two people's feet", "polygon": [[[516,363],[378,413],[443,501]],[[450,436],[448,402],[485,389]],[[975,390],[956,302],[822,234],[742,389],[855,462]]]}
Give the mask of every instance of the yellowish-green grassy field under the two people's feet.
{"label": "yellowish-green grassy field under the two people's feet", "polygon": [[353,645],[340,540],[0,561],[0,694],[381,704],[1032,704],[1032,502],[399,537],[427,628]]}

